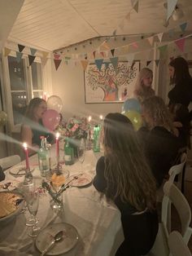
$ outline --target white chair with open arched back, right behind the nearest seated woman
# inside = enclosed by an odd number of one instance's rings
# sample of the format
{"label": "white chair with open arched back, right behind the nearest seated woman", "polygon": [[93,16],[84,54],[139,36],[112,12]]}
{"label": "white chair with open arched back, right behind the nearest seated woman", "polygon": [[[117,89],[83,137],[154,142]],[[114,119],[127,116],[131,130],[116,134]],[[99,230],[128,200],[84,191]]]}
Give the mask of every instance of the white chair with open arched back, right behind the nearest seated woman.
{"label": "white chair with open arched back, right behind the nearest seated woman", "polygon": [[[159,231],[156,236],[155,244],[148,256],[168,256],[168,235],[171,232],[168,220],[171,220],[171,207],[174,205],[178,216],[181,220],[181,235],[185,244],[190,240],[192,228],[190,227],[191,211],[185,196],[173,183],[164,183],[164,199],[162,202],[161,223],[159,223]],[[170,214],[170,215],[169,215]],[[171,227],[171,225],[170,225]]]}

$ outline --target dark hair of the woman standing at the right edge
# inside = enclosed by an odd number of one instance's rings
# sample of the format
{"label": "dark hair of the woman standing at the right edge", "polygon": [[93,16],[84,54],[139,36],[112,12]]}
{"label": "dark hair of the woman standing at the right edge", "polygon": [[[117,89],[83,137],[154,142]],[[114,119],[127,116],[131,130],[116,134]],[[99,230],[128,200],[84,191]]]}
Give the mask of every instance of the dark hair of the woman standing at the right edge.
{"label": "dark hair of the woman standing at the right edge", "polygon": [[183,80],[191,79],[189,65],[187,61],[182,57],[177,57],[169,63],[172,66],[174,71],[173,82],[178,83]]}

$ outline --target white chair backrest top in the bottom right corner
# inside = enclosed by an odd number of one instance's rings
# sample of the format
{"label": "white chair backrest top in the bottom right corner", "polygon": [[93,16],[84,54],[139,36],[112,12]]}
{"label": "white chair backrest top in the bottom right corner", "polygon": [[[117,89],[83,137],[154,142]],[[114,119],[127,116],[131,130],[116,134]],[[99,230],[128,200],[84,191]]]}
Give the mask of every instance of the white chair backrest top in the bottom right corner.
{"label": "white chair backrest top in the bottom right corner", "polygon": [[171,232],[168,236],[168,247],[172,256],[191,256],[190,249],[177,231]]}

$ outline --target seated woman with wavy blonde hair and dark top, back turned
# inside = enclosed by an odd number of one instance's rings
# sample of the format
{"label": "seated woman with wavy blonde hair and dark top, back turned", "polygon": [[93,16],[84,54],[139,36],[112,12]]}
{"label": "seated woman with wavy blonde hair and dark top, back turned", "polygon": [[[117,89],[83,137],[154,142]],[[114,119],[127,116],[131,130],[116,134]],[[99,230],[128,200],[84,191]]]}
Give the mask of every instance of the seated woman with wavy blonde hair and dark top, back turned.
{"label": "seated woman with wavy blonde hair and dark top, back turned", "polygon": [[159,96],[145,99],[142,102],[142,118],[146,127],[140,128],[137,133],[159,188],[170,167],[176,164],[182,143],[175,134],[164,99]]}

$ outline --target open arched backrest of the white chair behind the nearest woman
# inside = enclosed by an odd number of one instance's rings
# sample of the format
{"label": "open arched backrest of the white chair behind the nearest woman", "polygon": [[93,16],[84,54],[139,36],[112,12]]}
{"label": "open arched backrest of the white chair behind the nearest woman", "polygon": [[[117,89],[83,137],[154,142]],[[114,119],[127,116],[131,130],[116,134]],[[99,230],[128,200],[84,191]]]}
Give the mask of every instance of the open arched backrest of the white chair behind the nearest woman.
{"label": "open arched backrest of the white chair behind the nearest woman", "polygon": [[176,185],[166,182],[164,183],[164,199],[162,202],[161,221],[164,225],[164,231],[167,237],[170,232],[168,228],[168,221],[171,223],[171,204],[174,205],[177,210],[181,220],[181,235],[187,244],[192,233],[192,228],[190,227],[190,205]]}

